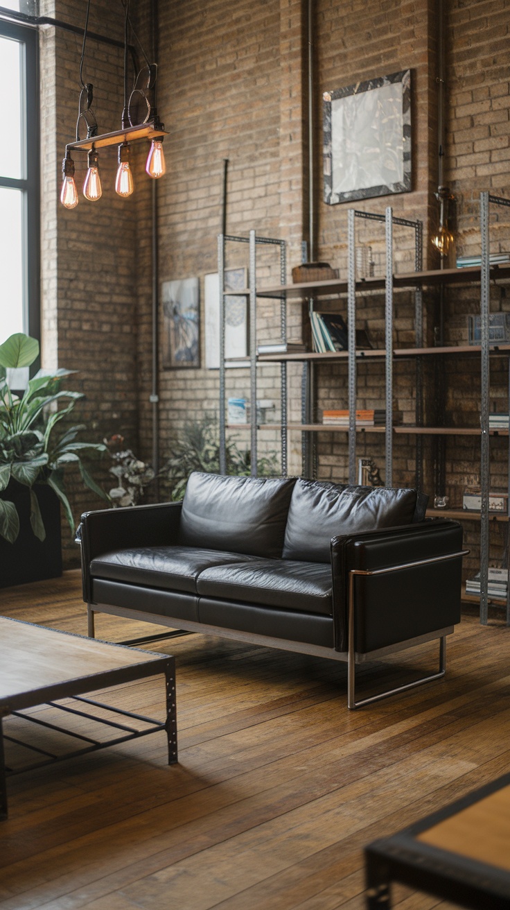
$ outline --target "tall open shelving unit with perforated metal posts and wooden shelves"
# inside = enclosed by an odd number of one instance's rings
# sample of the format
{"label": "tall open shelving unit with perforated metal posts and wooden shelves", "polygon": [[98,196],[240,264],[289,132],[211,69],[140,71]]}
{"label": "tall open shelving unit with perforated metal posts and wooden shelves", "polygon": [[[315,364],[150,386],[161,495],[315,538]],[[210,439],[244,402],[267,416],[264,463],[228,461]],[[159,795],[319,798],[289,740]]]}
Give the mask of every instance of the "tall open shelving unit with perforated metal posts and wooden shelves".
{"label": "tall open shelving unit with perforated metal posts and wooden shelves", "polygon": [[[510,265],[489,264],[488,256],[488,208],[489,203],[495,205],[508,206],[510,201],[498,197],[489,197],[488,193],[481,195],[481,236],[482,236],[482,257],[481,266],[471,266],[468,268],[449,268],[435,269],[424,271],[422,268],[421,254],[421,224],[420,222],[407,221],[393,217],[390,207],[386,208],[385,215],[371,215],[370,213],[358,213],[354,209],[349,210],[347,238],[348,238],[348,278],[329,278],[324,281],[313,281],[295,284],[285,284],[285,265],[281,266],[281,284],[259,288],[256,280],[255,269],[255,244],[259,242],[283,243],[283,241],[264,241],[263,238],[255,238],[255,232],[250,232],[250,288],[246,293],[250,295],[250,367],[251,367],[251,393],[256,398],[256,367],[257,364],[281,364],[282,378],[282,418],[279,424],[261,424],[258,428],[256,421],[252,420],[250,425],[252,451],[256,453],[256,433],[258,430],[275,429],[275,426],[281,431],[282,437],[282,472],[286,472],[286,442],[289,432],[301,432],[304,440],[310,439],[316,433],[346,433],[348,434],[348,451],[349,451],[349,475],[348,480],[355,483],[356,477],[356,458],[355,446],[356,436],[359,433],[379,433],[385,436],[385,483],[386,486],[392,485],[393,475],[393,440],[398,434],[406,434],[409,437],[415,437],[415,483],[421,487],[423,477],[423,450],[421,440],[424,437],[479,437],[481,440],[481,459],[480,459],[480,487],[482,508],[480,512],[467,513],[460,508],[461,500],[458,507],[434,510],[427,512],[429,516],[443,515],[445,518],[454,518],[461,521],[469,522],[473,528],[477,522],[480,523],[480,596],[474,594],[465,594],[465,600],[469,602],[480,602],[481,622],[487,622],[487,606],[489,602],[498,605],[506,604],[506,620],[510,624],[510,602],[508,596],[506,600],[502,598],[489,597],[488,594],[488,560],[489,560],[489,534],[491,527],[501,527],[500,522],[508,522],[507,514],[493,514],[489,512],[489,439],[490,437],[508,438],[508,429],[504,426],[495,426],[495,421],[489,418],[489,358],[508,359],[510,368],[510,344],[495,345],[491,342],[489,336],[489,282],[504,281],[510,279]],[[374,220],[385,222],[385,261],[386,261],[386,278],[363,278],[355,280],[355,217],[373,218]],[[411,227],[415,230],[415,265],[416,270],[393,275],[393,227],[394,224],[401,224],[405,227]],[[225,249],[225,239],[220,236],[219,248]],[[246,241],[245,241],[246,242]],[[223,246],[222,246],[223,245]],[[280,246],[281,264],[285,263],[285,248]],[[423,289],[445,287],[461,287],[480,285],[481,288],[481,306],[480,306],[480,343],[479,344],[441,344],[430,346],[424,343],[423,337]],[[356,317],[356,295],[360,292],[367,294],[370,291],[385,291],[385,349],[355,349],[355,317]],[[412,290],[415,292],[415,347],[393,347],[393,326],[394,326],[394,291],[395,290]],[[282,329],[282,343],[285,343],[285,326],[286,326],[286,303],[293,301],[302,303],[303,301],[317,301],[322,297],[335,295],[337,297],[347,297],[347,326],[349,331],[349,349],[340,351],[282,351],[275,354],[265,354],[256,356],[256,298],[275,298],[280,301],[280,323]],[[337,301],[335,306],[337,306]],[[481,420],[480,426],[426,426],[424,425],[424,401],[423,401],[423,367],[430,359],[447,358],[446,362],[455,362],[451,358],[480,359],[481,365]],[[403,359],[415,360],[415,424],[412,426],[398,426],[392,422],[393,413],[393,368],[395,363]],[[385,404],[388,420],[384,427],[381,426],[359,426],[356,425],[356,368],[362,362],[385,362]],[[349,426],[325,426],[314,420],[314,409],[308,396],[302,401],[302,421],[300,423],[287,421],[287,389],[286,389],[286,371],[285,365],[289,362],[302,362],[304,369],[308,372],[308,378],[312,378],[312,385],[315,382],[314,369],[316,364],[320,363],[344,363],[347,366],[347,390],[349,404]],[[309,389],[310,382],[307,388]],[[220,414],[225,414],[225,391],[220,392]],[[221,423],[221,420],[220,420]],[[507,425],[506,425],[507,427]],[[224,430],[225,431],[225,430]],[[255,449],[254,449],[255,447]],[[306,447],[304,446],[304,465],[303,473],[311,473],[310,460],[305,457]],[[253,470],[256,470],[256,458],[252,458]],[[347,480],[347,478],[338,478],[338,480]],[[510,482],[510,479],[509,479]],[[510,490],[510,487],[509,487]],[[506,543],[506,548],[508,544]]]}

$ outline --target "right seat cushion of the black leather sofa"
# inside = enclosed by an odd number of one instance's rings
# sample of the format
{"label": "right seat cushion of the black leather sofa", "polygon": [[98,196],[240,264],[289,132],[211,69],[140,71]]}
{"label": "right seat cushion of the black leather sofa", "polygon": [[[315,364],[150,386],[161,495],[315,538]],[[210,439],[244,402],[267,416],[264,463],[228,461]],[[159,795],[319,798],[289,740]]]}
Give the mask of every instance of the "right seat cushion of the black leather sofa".
{"label": "right seat cushion of the black leather sofa", "polygon": [[332,583],[331,568],[323,563],[254,560],[205,569],[196,590],[201,597],[331,616]]}

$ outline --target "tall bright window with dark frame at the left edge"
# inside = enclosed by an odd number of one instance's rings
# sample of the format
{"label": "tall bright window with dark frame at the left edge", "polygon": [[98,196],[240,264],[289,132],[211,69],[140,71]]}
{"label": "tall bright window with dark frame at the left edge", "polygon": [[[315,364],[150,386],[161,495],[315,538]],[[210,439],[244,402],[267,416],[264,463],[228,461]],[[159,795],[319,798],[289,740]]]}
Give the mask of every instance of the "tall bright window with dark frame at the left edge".
{"label": "tall bright window with dark frame at the left edge", "polygon": [[40,332],[36,41],[0,21],[0,344]]}

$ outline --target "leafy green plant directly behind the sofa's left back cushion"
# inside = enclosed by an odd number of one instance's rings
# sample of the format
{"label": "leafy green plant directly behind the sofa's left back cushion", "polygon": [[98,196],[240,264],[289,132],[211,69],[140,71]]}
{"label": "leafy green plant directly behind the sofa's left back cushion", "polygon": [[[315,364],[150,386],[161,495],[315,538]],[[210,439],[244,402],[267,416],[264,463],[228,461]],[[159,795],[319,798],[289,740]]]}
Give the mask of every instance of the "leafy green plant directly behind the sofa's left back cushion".
{"label": "leafy green plant directly behind the sofa's left back cushion", "polygon": [[[225,450],[226,473],[248,477],[251,473],[250,452],[239,450],[234,437],[226,438]],[[219,428],[214,418],[187,421],[170,458],[162,468],[160,477],[169,485],[172,500],[183,499],[187,479],[194,470],[219,474]],[[257,460],[257,474],[259,477],[278,476],[279,465],[275,452]]]}

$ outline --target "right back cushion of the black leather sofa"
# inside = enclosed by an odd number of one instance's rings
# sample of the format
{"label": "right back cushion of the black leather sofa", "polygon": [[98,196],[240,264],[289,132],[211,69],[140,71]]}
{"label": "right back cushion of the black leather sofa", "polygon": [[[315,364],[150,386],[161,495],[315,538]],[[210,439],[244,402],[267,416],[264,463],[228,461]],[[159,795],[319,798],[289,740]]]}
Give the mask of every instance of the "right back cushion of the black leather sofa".
{"label": "right back cushion of the black leather sofa", "polygon": [[416,490],[297,480],[285,529],[283,557],[329,562],[332,537],[424,521],[427,501],[428,497]]}

